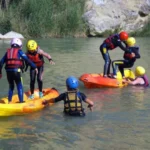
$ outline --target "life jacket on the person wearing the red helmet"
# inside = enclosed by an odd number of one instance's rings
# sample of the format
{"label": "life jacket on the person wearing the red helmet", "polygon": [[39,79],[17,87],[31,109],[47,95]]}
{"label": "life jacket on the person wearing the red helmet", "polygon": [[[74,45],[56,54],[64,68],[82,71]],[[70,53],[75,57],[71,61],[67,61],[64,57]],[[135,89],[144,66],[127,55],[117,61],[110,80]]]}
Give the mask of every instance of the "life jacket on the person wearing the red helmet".
{"label": "life jacket on the person wearing the red helmet", "polygon": [[107,47],[112,50],[114,48],[117,47],[117,45],[114,44],[113,40],[115,38],[118,38],[119,39],[119,35],[118,34],[114,34],[112,36],[109,36],[107,39],[104,40],[104,43],[107,45]]}

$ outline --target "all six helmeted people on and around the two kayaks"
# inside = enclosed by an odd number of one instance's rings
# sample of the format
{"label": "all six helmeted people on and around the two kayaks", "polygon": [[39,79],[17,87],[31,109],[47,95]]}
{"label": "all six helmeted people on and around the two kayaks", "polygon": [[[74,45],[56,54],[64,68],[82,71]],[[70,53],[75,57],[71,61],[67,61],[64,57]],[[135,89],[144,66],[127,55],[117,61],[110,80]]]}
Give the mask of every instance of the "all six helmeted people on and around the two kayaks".
{"label": "all six helmeted people on and around the two kayaks", "polygon": [[[144,85],[148,86],[148,78],[145,75],[145,69],[143,67],[137,67],[135,80],[126,79],[124,75],[124,68],[133,67],[136,59],[140,58],[139,47],[135,46],[136,40],[133,37],[128,37],[128,33],[122,31],[119,34],[109,36],[104,40],[100,46],[100,52],[105,61],[103,76],[105,78],[117,78],[117,69],[121,72],[123,82],[131,85]],[[124,51],[123,60],[112,61],[113,75],[110,74],[111,59],[108,51],[113,50],[116,47],[120,47]],[[23,103],[23,84],[21,71],[27,71],[30,66],[30,92],[29,99],[34,99],[35,79],[37,76],[39,97],[43,97],[43,71],[44,71],[44,57],[46,57],[51,65],[54,65],[52,57],[44,52],[36,41],[28,40],[26,44],[26,53],[22,51],[22,41],[18,38],[14,38],[10,42],[10,48],[0,60],[0,78],[2,77],[2,68],[5,63],[5,69],[7,74],[7,80],[9,83],[8,101],[11,103],[14,86],[16,84],[18,90],[18,97],[20,103]],[[73,116],[85,116],[85,112],[82,106],[82,101],[88,104],[90,110],[94,103],[86,97],[84,93],[78,90],[78,79],[74,76],[70,76],[66,79],[67,92],[60,94],[53,99],[53,102],[64,101],[64,112]]]}

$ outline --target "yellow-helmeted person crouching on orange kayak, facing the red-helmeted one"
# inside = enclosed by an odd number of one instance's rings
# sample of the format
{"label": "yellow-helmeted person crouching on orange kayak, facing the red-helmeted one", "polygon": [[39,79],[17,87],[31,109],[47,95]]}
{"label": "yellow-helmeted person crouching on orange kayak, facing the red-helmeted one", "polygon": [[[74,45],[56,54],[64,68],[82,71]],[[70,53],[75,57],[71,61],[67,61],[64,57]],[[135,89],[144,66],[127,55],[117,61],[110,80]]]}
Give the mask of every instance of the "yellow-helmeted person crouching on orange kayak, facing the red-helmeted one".
{"label": "yellow-helmeted person crouching on orange kayak, facing the red-helmeted one", "polygon": [[135,46],[135,43],[136,43],[135,38],[129,37],[126,43],[127,43],[129,52],[126,51],[124,53],[124,60],[114,60],[112,62],[113,78],[117,78],[118,68],[119,68],[119,71],[121,72],[122,77],[125,78],[124,68],[133,67],[136,59],[140,58],[139,47]]}

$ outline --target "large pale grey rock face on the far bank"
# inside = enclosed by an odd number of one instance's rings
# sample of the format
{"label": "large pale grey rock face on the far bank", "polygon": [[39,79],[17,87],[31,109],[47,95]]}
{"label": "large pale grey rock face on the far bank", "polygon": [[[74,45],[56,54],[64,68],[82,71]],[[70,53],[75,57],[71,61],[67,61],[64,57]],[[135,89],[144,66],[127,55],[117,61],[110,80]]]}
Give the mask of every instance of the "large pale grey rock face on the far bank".
{"label": "large pale grey rock face on the far bank", "polygon": [[149,20],[150,0],[87,0],[83,15],[91,36],[106,31],[141,30]]}

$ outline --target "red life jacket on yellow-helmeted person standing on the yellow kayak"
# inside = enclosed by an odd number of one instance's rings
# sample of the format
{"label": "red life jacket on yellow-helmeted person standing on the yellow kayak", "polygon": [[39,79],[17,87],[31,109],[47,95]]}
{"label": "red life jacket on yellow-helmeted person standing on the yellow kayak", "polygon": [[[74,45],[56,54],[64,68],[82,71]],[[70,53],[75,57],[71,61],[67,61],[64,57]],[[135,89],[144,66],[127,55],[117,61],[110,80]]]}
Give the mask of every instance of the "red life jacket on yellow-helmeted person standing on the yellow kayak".
{"label": "red life jacket on yellow-helmeted person standing on the yellow kayak", "polygon": [[35,63],[37,67],[43,66],[44,58],[42,55],[38,54],[37,52],[34,53],[27,52],[27,56],[32,62]]}

